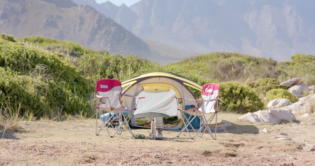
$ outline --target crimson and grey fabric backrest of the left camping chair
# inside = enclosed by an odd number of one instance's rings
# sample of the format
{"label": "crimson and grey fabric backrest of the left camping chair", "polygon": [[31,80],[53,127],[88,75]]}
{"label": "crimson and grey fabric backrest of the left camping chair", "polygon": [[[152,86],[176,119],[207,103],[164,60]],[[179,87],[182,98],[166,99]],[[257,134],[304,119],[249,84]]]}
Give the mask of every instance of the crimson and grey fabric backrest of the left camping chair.
{"label": "crimson and grey fabric backrest of the left camping chair", "polygon": [[100,96],[108,97],[108,100],[105,98],[101,99],[100,107],[101,108],[117,108],[122,109],[122,105],[120,103],[120,95],[121,95],[121,82],[114,79],[102,79],[96,82],[96,92]]}

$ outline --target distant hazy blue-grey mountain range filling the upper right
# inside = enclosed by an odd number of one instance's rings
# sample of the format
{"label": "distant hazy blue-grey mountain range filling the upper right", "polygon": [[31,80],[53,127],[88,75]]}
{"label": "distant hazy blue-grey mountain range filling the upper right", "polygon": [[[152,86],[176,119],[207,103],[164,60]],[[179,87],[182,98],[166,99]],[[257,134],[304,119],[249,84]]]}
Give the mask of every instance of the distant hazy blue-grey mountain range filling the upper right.
{"label": "distant hazy blue-grey mountain range filling the upper right", "polygon": [[238,52],[289,60],[315,53],[313,0],[141,0],[92,4],[137,36],[198,53]]}

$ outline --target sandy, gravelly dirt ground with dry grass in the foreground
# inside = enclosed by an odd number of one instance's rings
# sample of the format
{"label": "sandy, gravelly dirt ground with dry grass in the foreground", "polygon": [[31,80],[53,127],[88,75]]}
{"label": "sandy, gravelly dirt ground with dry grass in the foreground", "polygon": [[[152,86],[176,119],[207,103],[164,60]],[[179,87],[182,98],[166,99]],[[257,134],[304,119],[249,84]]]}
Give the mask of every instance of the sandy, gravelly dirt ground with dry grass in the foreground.
{"label": "sandy, gravelly dirt ground with dry grass in the foreground", "polygon": [[[133,140],[127,130],[113,138],[105,130],[96,136],[95,119],[23,121],[19,132],[0,140],[0,165],[315,165],[315,152],[307,152],[308,144],[315,144],[315,125],[308,125],[314,114],[297,116],[300,123],[276,125],[243,122],[240,116],[219,113],[219,122],[237,125],[218,132],[216,140],[208,133],[177,138],[179,131],[168,130],[163,141],[150,140],[149,129],[133,129],[145,140]],[[280,133],[291,140],[273,138]]]}

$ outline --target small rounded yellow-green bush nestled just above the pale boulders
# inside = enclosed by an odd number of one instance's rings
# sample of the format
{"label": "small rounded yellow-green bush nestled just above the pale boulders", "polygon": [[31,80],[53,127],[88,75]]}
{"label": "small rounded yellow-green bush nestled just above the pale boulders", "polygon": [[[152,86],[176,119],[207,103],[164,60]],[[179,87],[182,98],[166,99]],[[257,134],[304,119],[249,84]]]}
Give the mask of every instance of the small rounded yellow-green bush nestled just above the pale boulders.
{"label": "small rounded yellow-green bush nestled just above the pale boulders", "polygon": [[266,93],[267,102],[270,102],[276,98],[286,98],[289,99],[290,102],[299,101],[294,94],[284,89],[272,89]]}

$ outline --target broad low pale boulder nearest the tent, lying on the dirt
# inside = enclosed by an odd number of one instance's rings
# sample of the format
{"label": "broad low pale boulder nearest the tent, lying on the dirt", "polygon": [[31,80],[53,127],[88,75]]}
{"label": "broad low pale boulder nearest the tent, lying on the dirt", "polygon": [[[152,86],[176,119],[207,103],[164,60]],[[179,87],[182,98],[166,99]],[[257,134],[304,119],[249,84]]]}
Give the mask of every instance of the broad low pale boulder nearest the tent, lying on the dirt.
{"label": "broad low pale boulder nearest the tent, lying on the dirt", "polygon": [[279,123],[282,119],[286,121],[294,121],[295,116],[290,111],[281,110],[278,108],[272,108],[269,110],[259,110],[254,113],[246,113],[239,119],[251,122],[268,122],[268,123]]}

